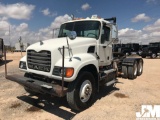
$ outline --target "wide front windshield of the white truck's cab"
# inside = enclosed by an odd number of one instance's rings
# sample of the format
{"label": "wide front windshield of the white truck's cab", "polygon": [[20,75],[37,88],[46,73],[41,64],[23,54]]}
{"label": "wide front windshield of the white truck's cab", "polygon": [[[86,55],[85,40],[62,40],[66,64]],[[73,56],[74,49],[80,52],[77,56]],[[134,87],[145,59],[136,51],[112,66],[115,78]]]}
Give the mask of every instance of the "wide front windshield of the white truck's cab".
{"label": "wide front windshield of the white truck's cab", "polygon": [[99,38],[99,21],[76,21],[61,25],[59,36],[66,37],[71,31],[77,33],[77,37]]}

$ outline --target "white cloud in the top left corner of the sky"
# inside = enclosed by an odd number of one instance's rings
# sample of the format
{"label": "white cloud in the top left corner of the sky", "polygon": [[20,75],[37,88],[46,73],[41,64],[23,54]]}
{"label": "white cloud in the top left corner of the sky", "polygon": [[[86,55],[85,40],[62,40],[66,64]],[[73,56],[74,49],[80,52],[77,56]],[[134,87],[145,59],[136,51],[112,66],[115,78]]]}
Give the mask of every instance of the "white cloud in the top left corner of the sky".
{"label": "white cloud in the top left corner of the sky", "polygon": [[28,5],[25,3],[15,4],[1,4],[0,3],[0,15],[13,18],[13,19],[30,19],[32,11],[35,9],[34,5]]}

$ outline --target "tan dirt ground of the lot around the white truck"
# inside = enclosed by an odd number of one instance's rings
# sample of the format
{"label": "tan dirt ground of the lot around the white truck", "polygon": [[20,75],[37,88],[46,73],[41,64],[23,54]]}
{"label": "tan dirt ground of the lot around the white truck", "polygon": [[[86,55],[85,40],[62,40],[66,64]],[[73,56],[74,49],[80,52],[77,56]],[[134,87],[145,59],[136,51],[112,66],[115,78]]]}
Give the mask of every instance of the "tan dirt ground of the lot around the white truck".
{"label": "tan dirt ground of the lot around the white truck", "polygon": [[[25,55],[25,53],[23,53]],[[9,74],[19,73],[20,53],[7,53]],[[6,80],[0,63],[0,120],[135,120],[141,105],[160,105],[160,59],[144,59],[143,74],[135,80],[118,78],[114,88],[103,87],[95,103],[76,113],[64,98],[30,96]]]}

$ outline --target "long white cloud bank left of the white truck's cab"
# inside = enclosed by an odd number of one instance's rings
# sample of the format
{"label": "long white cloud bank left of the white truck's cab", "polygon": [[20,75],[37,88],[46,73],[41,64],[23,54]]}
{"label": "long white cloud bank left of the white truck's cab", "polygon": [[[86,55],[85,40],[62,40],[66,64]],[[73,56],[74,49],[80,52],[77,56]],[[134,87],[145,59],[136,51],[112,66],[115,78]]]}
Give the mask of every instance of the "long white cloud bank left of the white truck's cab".
{"label": "long white cloud bank left of the white truck's cab", "polygon": [[[29,31],[29,25],[27,23],[21,23],[19,25],[11,25],[8,20],[0,18],[0,37],[5,41],[5,44],[14,45],[18,42],[19,37],[22,37],[22,41],[30,44],[38,42],[39,40],[50,39],[53,36],[53,29],[59,28],[63,22],[69,20],[69,15],[58,16],[51,23],[50,26],[41,28],[36,32]],[[10,32],[9,32],[10,26]]]}

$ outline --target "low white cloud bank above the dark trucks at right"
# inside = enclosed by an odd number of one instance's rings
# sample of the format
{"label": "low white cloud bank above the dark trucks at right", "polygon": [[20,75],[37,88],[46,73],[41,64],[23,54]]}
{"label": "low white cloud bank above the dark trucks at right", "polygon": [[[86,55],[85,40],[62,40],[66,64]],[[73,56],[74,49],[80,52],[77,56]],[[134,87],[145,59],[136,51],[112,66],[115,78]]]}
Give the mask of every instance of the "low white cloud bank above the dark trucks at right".
{"label": "low white cloud bank above the dark trucks at right", "polygon": [[145,26],[142,30],[125,28],[119,30],[119,38],[122,43],[148,44],[149,42],[159,42],[160,39],[160,19],[151,25]]}

